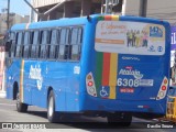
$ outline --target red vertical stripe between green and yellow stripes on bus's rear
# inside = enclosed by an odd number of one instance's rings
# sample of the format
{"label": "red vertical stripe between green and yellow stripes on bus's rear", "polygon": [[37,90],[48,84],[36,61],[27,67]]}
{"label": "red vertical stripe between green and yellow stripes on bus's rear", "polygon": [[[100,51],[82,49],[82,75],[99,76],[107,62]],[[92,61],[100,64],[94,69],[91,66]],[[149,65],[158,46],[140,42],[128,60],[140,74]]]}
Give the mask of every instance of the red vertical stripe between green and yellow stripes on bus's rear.
{"label": "red vertical stripe between green and yellow stripes on bus's rear", "polygon": [[102,86],[109,86],[110,53],[103,53]]}

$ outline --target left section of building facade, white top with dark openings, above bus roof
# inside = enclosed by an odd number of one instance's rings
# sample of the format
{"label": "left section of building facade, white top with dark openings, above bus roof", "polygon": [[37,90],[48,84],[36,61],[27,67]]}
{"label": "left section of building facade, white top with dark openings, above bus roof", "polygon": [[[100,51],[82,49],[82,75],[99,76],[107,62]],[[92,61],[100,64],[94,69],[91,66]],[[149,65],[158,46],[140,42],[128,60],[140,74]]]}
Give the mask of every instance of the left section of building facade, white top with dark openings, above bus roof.
{"label": "left section of building facade, white top with dark openings, above bus roof", "polygon": [[[32,4],[40,13],[59,4],[43,20],[81,16],[101,12],[101,0],[32,0]],[[34,16],[35,21],[38,20]]]}

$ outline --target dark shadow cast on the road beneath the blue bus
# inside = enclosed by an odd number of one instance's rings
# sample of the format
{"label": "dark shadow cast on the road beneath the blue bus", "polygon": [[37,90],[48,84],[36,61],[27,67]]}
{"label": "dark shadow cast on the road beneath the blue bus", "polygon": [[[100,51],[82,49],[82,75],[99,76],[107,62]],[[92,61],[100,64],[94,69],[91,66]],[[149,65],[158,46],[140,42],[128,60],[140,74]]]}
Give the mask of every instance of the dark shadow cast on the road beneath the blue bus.
{"label": "dark shadow cast on the road beneath the blue bus", "polygon": [[[47,119],[46,111],[28,111],[29,114],[37,116],[44,119]],[[144,129],[146,128],[145,124],[142,123],[132,123],[131,127],[122,127],[123,123],[120,124],[108,124],[106,118],[88,118],[80,114],[63,114],[62,120],[56,123],[46,123],[47,127],[52,129]]]}

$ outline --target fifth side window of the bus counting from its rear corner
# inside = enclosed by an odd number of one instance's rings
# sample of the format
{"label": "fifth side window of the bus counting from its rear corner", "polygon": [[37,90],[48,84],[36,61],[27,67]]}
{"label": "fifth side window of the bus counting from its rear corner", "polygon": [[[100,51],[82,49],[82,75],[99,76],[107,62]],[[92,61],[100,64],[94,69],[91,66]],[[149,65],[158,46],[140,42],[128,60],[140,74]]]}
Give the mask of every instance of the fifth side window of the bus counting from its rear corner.
{"label": "fifth side window of the bus counting from its rear corner", "polygon": [[37,58],[40,53],[40,31],[33,32],[31,58]]}

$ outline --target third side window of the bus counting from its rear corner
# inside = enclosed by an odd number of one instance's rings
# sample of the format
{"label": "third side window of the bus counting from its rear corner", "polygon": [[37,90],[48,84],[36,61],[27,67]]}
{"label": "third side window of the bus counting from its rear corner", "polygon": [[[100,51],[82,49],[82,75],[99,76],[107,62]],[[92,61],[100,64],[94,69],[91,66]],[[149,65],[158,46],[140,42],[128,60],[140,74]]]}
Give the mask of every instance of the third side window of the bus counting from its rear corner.
{"label": "third side window of the bus counting from its rear corner", "polygon": [[58,42],[59,42],[59,31],[58,30],[53,30],[52,31],[52,35],[51,35],[51,48],[50,48],[50,55],[48,57],[51,59],[55,59],[57,56],[56,56],[56,53],[58,51]]}

